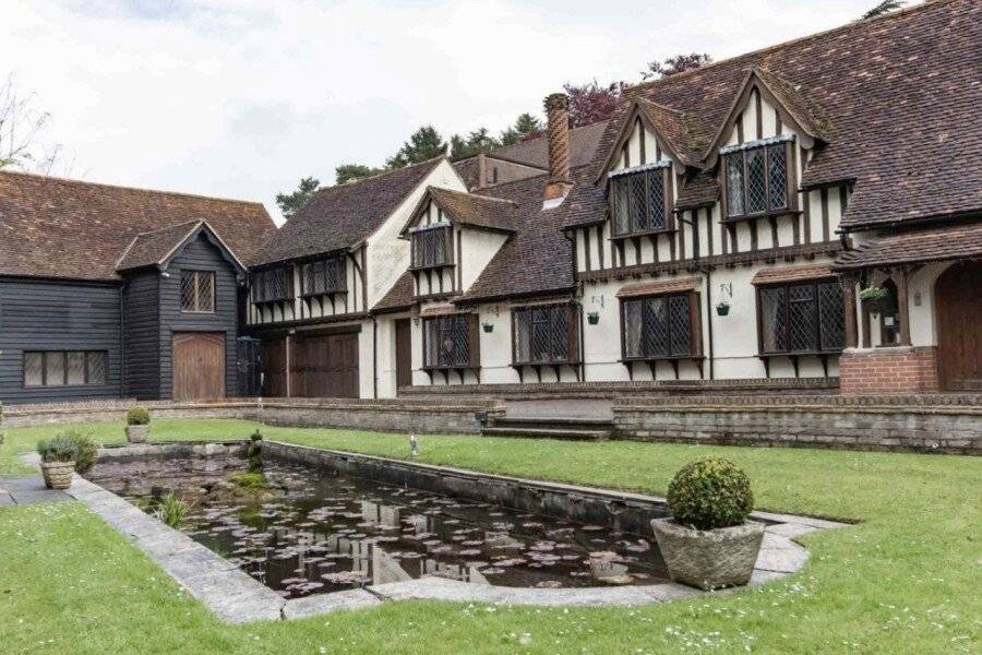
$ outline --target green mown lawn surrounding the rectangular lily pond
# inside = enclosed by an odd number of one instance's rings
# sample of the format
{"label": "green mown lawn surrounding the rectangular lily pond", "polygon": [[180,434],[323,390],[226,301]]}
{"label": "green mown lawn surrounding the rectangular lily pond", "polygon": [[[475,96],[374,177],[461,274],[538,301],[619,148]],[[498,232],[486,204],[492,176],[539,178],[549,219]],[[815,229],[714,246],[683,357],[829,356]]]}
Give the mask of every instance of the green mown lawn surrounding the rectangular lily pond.
{"label": "green mown lawn surrounding the rectangular lily pond", "polygon": [[[155,439],[228,439],[244,421],[156,420]],[[14,452],[58,427],[8,430]],[[85,431],[120,440],[120,424]],[[405,436],[263,428],[268,439],[405,457]],[[722,454],[757,507],[848,519],[809,535],[801,573],[761,590],[642,608],[390,603],[289,623],[213,620],[127,540],[64,503],[0,508],[2,653],[970,653],[982,617],[982,460],[823,450],[423,437],[420,461],[664,493]]]}

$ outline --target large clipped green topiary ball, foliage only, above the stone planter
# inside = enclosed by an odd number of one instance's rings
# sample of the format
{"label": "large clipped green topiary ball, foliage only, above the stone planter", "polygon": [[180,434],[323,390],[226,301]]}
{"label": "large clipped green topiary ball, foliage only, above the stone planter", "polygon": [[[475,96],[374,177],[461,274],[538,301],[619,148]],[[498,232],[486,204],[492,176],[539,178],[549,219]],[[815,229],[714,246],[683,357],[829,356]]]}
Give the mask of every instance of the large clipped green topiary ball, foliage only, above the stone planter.
{"label": "large clipped green topiary ball, foliage only, above the stone planter", "polygon": [[740,525],[754,509],[750,478],[722,457],[703,457],[679,469],[669,485],[672,517],[696,529]]}

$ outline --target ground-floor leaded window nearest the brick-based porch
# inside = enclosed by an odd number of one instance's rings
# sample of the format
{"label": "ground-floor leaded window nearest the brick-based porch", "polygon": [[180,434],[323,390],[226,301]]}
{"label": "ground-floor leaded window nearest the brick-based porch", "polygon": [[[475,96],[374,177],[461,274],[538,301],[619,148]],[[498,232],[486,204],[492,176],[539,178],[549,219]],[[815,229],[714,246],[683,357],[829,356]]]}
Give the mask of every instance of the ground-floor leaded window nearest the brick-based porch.
{"label": "ground-floor leaded window nearest the brick-based porch", "polygon": [[837,352],[845,346],[846,310],[838,281],[766,286],[757,299],[764,354]]}

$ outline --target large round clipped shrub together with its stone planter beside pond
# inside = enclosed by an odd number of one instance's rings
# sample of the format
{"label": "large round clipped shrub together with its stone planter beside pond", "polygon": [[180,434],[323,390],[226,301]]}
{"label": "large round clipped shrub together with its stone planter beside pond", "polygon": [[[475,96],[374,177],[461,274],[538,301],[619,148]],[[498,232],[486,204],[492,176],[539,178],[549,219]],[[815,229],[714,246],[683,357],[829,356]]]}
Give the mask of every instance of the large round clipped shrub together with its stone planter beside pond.
{"label": "large round clipped shrub together with its stone planter beside pond", "polygon": [[679,469],[669,485],[671,519],[651,522],[669,576],[703,590],[750,582],[764,524],[746,474],[729,460],[704,457]]}

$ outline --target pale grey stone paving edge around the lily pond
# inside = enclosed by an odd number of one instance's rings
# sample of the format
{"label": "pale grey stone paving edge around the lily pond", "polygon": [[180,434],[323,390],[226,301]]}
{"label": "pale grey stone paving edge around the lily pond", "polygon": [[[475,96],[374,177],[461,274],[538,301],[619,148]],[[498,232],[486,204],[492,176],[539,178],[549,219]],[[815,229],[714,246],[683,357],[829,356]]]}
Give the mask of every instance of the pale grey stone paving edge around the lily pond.
{"label": "pale grey stone paving edge around the lily pond", "polygon": [[[355,453],[342,451],[332,452],[339,456],[356,455]],[[356,456],[391,461],[393,464],[407,464],[399,460],[387,460],[371,455]],[[38,458],[35,454],[22,455],[21,460],[27,464],[38,464]],[[446,473],[454,475],[466,473],[484,477],[504,477],[477,474],[476,472],[467,472],[459,468],[415,463],[411,463],[411,465],[426,466],[431,469],[445,469]],[[556,483],[523,480],[522,478],[507,479],[539,485],[548,484],[550,487],[567,489],[571,492],[587,489]],[[610,493],[611,496],[631,496],[651,502],[663,502],[663,499],[658,497],[599,488],[589,488],[589,490]],[[630,606],[692,598],[706,593],[720,593],[700,592],[678,583],[621,587],[539,590],[476,585],[441,577],[420,577],[407,582],[371,585],[361,590],[315,594],[287,600],[221,556],[197,544],[191,537],[165,525],[122,497],[86,480],[77,474],[74,475],[72,485],[67,492],[75,500],[85,503],[93,513],[100,516],[117,532],[127,536],[191,596],[201,602],[218,619],[228,623],[289,620],[326,615],[338,610],[373,607],[391,600],[446,600],[552,607]],[[779,523],[768,525],[766,529],[761,555],[757,558],[754,574],[749,585],[751,587],[779,580],[800,571],[804,567],[809,559],[809,551],[803,546],[794,543],[794,538],[818,529],[845,525],[822,519],[770,512],[754,512],[754,516],[768,521],[778,521]],[[739,590],[727,590],[722,593],[732,592],[739,592]]]}

